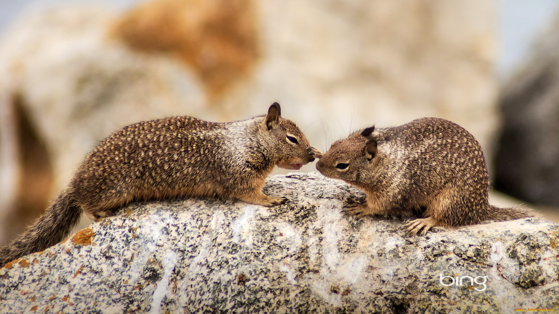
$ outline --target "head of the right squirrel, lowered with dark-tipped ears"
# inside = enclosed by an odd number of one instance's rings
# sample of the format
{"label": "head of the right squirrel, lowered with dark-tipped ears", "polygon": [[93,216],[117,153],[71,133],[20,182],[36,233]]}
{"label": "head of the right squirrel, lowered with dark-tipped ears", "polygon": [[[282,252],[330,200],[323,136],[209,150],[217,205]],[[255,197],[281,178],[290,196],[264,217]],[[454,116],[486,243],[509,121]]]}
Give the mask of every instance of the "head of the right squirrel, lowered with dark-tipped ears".
{"label": "head of the right squirrel, lowered with dark-tipped ears", "polygon": [[358,183],[363,172],[374,167],[378,159],[377,141],[371,136],[373,131],[374,126],[368,127],[347,139],[335,141],[316,163],[316,170],[325,177]]}

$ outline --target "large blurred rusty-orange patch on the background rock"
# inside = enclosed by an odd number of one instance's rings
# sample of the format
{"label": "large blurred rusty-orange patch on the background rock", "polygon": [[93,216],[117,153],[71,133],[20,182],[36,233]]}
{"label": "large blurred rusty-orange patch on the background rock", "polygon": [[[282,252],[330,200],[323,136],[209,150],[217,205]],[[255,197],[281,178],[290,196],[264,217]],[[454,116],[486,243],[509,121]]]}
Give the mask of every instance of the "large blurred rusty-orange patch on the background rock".
{"label": "large blurred rusty-orange patch on the background rock", "polygon": [[178,57],[216,98],[254,68],[257,25],[254,0],[155,0],[122,16],[111,34],[132,49]]}

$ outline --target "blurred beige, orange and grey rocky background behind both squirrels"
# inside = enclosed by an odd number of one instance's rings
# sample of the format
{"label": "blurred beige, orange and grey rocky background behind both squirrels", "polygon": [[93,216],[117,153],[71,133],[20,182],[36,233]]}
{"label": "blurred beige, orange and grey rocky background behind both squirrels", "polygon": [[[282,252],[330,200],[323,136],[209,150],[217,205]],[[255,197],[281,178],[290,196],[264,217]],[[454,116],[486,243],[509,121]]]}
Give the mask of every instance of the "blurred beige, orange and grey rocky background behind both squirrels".
{"label": "blurred beige, orange and grey rocky background behind both squirrels", "polygon": [[[232,121],[274,101],[323,150],[360,127],[447,118],[481,142],[504,192],[557,205],[547,196],[559,189],[548,70],[557,39],[545,39],[559,35],[545,33],[537,66],[510,79],[522,58],[503,62],[498,50],[508,9],[538,21],[515,34],[525,47],[555,2],[0,2],[0,242],[40,215],[121,126],[171,115]],[[526,3],[540,11],[519,9]],[[497,193],[492,201],[522,202]]]}

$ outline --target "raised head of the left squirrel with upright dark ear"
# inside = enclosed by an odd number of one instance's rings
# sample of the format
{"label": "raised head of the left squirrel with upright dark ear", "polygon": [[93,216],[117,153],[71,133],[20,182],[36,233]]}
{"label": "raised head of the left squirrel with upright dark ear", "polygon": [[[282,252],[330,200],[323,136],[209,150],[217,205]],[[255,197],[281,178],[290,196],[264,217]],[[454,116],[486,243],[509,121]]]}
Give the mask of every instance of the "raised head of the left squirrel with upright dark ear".
{"label": "raised head of the left squirrel with upright dark ear", "polygon": [[276,165],[280,168],[299,170],[322,156],[318,149],[309,145],[309,140],[293,121],[281,117],[281,107],[277,102],[268,108],[262,128],[271,137],[270,142],[278,156]]}

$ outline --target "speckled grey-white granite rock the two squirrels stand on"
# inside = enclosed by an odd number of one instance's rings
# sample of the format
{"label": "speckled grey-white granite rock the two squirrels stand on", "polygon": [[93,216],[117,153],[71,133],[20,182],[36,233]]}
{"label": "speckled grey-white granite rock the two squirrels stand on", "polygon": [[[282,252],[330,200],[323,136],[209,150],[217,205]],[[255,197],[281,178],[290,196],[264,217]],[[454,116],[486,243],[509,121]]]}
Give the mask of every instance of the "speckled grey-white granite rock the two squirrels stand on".
{"label": "speckled grey-white granite rock the two squirrels stand on", "polygon": [[[0,312],[559,310],[554,223],[529,218],[410,236],[399,218],[342,216],[363,193],[318,173],[271,177],[266,192],[291,202],[131,204],[0,269]],[[467,277],[444,286],[441,276],[487,276],[486,288]]]}

